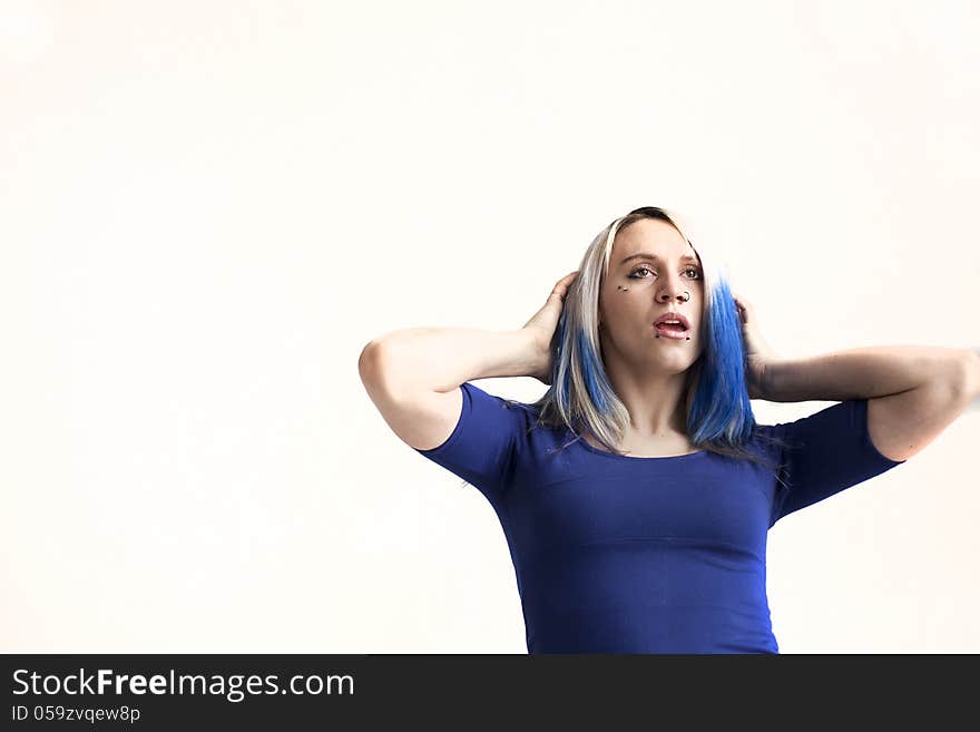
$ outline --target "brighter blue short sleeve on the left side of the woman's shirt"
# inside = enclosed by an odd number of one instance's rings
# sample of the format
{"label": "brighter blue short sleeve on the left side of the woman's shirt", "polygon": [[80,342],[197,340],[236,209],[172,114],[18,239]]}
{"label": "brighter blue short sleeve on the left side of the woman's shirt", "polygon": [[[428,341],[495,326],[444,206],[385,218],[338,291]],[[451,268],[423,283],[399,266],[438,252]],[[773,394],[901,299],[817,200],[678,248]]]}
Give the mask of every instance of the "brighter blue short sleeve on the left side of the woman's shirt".
{"label": "brighter blue short sleeve on the left side of the woman's shirt", "polygon": [[521,406],[508,403],[469,381],[460,385],[462,411],[445,442],[415,449],[482,492],[491,504],[503,495],[513,474],[528,418]]}

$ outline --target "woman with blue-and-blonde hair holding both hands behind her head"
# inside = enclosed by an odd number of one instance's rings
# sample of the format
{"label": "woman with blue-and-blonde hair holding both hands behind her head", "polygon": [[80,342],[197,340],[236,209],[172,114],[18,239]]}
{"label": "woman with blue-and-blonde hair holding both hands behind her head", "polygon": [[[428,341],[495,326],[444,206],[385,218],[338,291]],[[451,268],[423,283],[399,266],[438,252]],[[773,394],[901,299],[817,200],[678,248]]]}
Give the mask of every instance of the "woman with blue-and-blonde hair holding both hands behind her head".
{"label": "woman with blue-and-blonde hair holding both hands behind her head", "polygon": [[[657,207],[600,232],[520,330],[399,331],[360,370],[394,432],[493,506],[530,653],[778,653],[768,529],[904,462],[980,383],[955,349],[776,358]],[[470,383],[516,375],[550,388]],[[840,403],[766,426],[751,399]]]}

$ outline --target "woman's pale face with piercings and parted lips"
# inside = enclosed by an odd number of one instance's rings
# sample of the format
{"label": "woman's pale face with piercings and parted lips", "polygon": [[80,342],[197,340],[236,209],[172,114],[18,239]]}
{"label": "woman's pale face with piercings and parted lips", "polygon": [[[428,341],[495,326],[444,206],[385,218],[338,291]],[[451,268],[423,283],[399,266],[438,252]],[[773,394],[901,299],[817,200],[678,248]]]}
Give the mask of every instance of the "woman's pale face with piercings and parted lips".
{"label": "woman's pale face with piercings and parted lips", "polygon": [[[702,277],[697,253],[667,222],[641,218],[620,228],[599,292],[599,341],[607,365],[609,359],[624,359],[664,373],[689,369],[703,350]],[[654,326],[667,311],[682,313],[690,324],[683,338],[668,338]]]}

